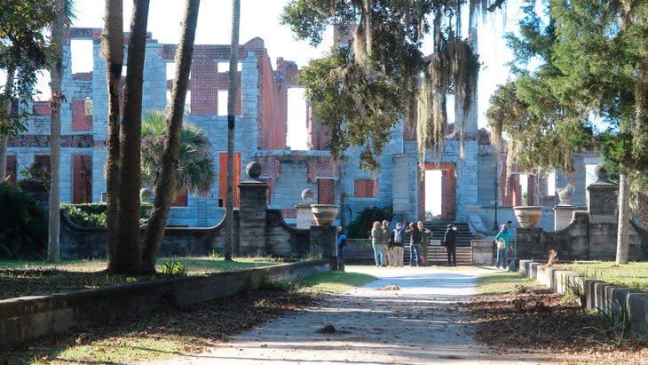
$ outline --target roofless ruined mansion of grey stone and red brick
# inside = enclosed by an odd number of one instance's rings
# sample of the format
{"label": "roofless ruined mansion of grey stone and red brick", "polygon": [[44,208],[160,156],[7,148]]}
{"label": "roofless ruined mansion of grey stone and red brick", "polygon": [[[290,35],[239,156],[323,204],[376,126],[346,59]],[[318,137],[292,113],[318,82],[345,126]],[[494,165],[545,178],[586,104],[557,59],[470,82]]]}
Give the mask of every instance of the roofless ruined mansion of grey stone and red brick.
{"label": "roofless ruined mansion of grey stone and red brick", "polygon": [[[71,71],[71,40],[90,40],[91,72]],[[62,78],[66,96],[61,107],[61,201],[99,202],[105,197],[104,166],[107,159],[107,85],[106,63],[100,57],[100,28],[71,28],[65,45]],[[167,106],[172,76],[168,65],[174,62],[176,44],[158,43],[149,35],[146,43],[143,112]],[[426,175],[420,168],[415,129],[398,123],[391,131],[391,142],[380,157],[381,169],[372,175],[359,168],[358,154],[347,152],[349,160],[336,163],[326,149],[325,129],[306,115],[308,150],[287,147],[288,89],[298,87],[294,76],[296,63],[279,58],[271,62],[261,38],[239,47],[240,72],[235,137],[235,182],[247,179],[244,166],[261,163],[263,179],[269,186],[268,207],[282,211],[288,223],[296,218],[295,206],[301,192],[311,188],[314,202],[340,205],[338,221],[349,223],[370,207],[393,206],[399,220],[425,217]],[[226,103],[229,45],[195,45],[187,95],[185,120],[207,132],[217,165],[217,181],[207,196],[178,194],[170,210],[170,226],[215,226],[225,216],[226,115],[219,113]],[[224,94],[225,92],[225,94]],[[220,107],[219,107],[220,104]],[[33,163],[49,166],[50,109],[47,102],[30,106],[33,116],[28,131],[9,141],[7,173],[12,179]],[[428,156],[425,171],[439,171],[440,183],[434,194],[441,195],[441,211],[434,218],[469,222],[475,231],[493,228],[497,221],[515,218],[511,207],[522,202],[519,171],[507,181],[502,167],[504,157],[495,163],[489,133],[478,130],[477,113],[467,118],[465,158],[460,159],[460,142],[455,134],[446,138],[439,161]],[[585,170],[598,163],[597,155],[574,155],[577,173],[572,204],[584,206]],[[241,176],[242,175],[242,176]],[[527,202],[546,207],[539,226],[553,226],[555,194],[549,194],[551,181],[527,179]],[[555,179],[565,186],[566,178]],[[239,204],[238,189],[234,198]],[[428,194],[429,195],[429,194]]]}

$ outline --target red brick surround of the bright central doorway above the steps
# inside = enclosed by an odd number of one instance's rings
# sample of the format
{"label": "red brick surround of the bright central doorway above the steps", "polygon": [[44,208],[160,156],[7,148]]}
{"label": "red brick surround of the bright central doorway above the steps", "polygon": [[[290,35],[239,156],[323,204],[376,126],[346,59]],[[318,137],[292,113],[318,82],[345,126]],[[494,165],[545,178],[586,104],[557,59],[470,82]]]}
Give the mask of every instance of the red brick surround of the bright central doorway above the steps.
{"label": "red brick surround of the bright central doorway above the steps", "polygon": [[[442,171],[441,177],[441,219],[454,220],[456,212],[456,167],[454,163],[425,163],[425,171]],[[425,218],[425,171],[420,171],[418,216]]]}

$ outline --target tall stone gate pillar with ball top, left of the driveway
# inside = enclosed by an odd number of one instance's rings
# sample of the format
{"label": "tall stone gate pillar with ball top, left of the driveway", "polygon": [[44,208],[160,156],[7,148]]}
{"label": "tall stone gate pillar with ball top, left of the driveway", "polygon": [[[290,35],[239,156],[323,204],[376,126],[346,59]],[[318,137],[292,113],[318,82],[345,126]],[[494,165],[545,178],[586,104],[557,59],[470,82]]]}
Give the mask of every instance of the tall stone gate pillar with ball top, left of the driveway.
{"label": "tall stone gate pillar with ball top, left of the driveway", "polygon": [[265,232],[267,215],[268,185],[258,180],[261,165],[248,163],[249,179],[239,184],[241,207],[239,208],[239,252],[240,256],[265,256]]}

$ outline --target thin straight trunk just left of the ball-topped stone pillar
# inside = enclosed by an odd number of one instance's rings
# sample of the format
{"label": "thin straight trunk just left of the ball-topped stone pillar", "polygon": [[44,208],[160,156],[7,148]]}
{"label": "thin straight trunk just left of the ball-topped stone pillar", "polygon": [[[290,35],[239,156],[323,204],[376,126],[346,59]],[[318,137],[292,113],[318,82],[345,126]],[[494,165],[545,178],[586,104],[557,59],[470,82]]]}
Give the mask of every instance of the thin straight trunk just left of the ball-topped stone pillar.
{"label": "thin straight trunk just left of the ball-topped stone pillar", "polygon": [[230,73],[227,87],[227,202],[225,203],[225,260],[232,259],[234,227],[234,114],[238,92],[239,23],[241,1],[232,1],[232,44],[230,45]]}

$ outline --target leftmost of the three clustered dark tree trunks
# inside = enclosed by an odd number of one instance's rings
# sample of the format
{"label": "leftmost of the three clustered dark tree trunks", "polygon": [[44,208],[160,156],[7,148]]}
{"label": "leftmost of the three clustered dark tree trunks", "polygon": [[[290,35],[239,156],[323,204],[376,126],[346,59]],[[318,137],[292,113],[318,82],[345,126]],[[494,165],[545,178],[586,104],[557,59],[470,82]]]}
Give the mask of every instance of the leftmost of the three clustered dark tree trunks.
{"label": "leftmost of the three clustered dark tree trunks", "polygon": [[119,86],[123,66],[123,4],[122,0],[106,0],[106,24],[102,55],[106,60],[108,86],[108,155],[106,163],[106,235],[108,271],[115,271],[116,222],[119,211]]}

